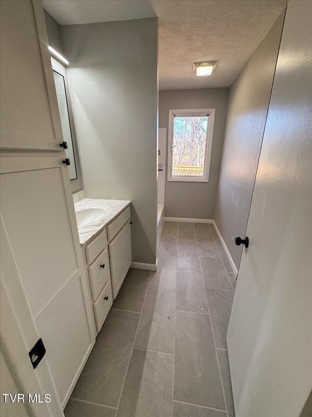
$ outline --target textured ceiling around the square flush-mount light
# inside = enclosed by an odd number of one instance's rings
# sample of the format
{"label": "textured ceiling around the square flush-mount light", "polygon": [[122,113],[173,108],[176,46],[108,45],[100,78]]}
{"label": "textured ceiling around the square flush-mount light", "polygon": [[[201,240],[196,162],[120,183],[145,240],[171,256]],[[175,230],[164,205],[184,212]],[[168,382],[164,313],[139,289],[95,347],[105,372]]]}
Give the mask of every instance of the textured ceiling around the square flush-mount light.
{"label": "textured ceiling around the square flush-mount light", "polygon": [[[229,87],[287,0],[43,0],[59,24],[157,16],[159,88]],[[218,61],[209,77],[193,63]]]}

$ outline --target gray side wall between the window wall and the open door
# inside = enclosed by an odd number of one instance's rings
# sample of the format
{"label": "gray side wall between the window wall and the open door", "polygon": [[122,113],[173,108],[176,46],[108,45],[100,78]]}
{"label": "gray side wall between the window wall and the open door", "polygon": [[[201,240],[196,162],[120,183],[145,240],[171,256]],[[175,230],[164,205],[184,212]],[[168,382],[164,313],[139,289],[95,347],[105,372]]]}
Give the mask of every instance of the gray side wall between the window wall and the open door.
{"label": "gray side wall between the window wall and the open door", "polygon": [[215,222],[238,268],[269,107],[285,12],[230,88]]}

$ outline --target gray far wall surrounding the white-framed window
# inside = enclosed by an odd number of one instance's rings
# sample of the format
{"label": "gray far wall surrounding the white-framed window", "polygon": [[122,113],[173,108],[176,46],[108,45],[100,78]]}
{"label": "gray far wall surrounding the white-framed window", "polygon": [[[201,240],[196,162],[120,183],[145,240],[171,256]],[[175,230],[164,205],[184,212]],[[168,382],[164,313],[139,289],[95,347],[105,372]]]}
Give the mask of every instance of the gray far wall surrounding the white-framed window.
{"label": "gray far wall surrounding the white-framed window", "polygon": [[215,128],[209,182],[167,181],[165,216],[213,219],[225,131],[229,88],[159,91],[159,127],[167,128],[170,109],[215,109]]}

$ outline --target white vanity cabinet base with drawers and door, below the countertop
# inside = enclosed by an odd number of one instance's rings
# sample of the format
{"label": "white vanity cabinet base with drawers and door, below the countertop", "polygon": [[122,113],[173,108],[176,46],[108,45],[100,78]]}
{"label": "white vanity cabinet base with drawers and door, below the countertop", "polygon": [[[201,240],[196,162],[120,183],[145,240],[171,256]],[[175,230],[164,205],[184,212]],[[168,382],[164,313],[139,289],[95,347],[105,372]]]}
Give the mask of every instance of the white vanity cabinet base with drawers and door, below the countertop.
{"label": "white vanity cabinet base with drawers and door, below the countertop", "polygon": [[129,205],[82,247],[82,256],[99,332],[132,263]]}

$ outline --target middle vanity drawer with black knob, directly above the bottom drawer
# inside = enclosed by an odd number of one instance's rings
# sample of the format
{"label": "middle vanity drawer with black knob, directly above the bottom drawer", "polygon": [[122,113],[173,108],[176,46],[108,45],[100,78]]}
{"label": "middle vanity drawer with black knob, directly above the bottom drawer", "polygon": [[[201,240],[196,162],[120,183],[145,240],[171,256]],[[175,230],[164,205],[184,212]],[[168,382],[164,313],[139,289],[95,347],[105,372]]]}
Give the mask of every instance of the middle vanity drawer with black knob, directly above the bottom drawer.
{"label": "middle vanity drawer with black knob, directly above the bottom drawer", "polygon": [[111,278],[108,248],[98,255],[98,258],[89,266],[88,270],[92,298],[95,301],[103,286]]}

